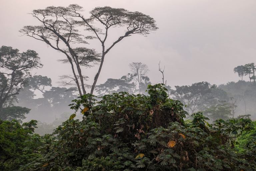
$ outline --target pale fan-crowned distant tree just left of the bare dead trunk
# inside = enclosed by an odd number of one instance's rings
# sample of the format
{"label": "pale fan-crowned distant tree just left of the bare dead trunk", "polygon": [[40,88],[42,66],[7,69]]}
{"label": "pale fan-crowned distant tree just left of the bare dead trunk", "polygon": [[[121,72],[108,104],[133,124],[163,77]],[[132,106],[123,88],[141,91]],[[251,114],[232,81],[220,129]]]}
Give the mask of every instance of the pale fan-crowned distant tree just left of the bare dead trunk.
{"label": "pale fan-crowned distant tree just left of the bare dead trunk", "polygon": [[149,69],[146,64],[142,64],[141,62],[133,62],[129,64],[131,72],[134,74],[134,80],[139,85],[139,93],[142,93],[143,80],[147,84],[149,78],[146,77]]}

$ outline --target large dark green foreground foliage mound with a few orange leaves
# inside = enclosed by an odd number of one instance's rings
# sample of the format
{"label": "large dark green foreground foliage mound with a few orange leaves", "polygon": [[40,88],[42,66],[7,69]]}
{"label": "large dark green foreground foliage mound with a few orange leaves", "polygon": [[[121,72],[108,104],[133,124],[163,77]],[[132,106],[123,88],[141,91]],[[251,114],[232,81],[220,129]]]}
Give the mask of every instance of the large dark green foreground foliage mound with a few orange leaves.
{"label": "large dark green foreground foliage mound with a few orange leaves", "polygon": [[74,120],[74,113],[42,136],[32,146],[38,156],[19,170],[256,169],[256,139],[243,153],[235,150],[236,137],[252,129],[250,119],[209,124],[199,112],[188,123],[183,104],[167,98],[162,84],[149,85],[148,94],[120,92],[97,102],[91,94],[78,97],[70,106],[83,120]]}

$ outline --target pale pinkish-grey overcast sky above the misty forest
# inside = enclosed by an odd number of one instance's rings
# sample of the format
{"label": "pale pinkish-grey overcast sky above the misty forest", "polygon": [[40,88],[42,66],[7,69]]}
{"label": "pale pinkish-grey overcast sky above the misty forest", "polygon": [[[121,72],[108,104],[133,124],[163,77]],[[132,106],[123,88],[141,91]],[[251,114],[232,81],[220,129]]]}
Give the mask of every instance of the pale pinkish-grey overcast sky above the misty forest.
{"label": "pale pinkish-grey overcast sky above the misty forest", "polygon": [[[191,85],[206,81],[225,84],[238,81],[233,69],[239,65],[256,63],[256,1],[255,0],[0,0],[0,46],[11,46],[24,52],[35,50],[43,68],[32,74],[47,76],[58,86],[58,76],[72,74],[69,64],[61,64],[63,54],[19,32],[26,25],[40,25],[29,14],[48,6],[84,7],[88,15],[95,7],[110,6],[139,11],[154,18],[159,28],[147,37],[133,35],[119,42],[106,55],[97,84],[108,78],[119,79],[130,73],[129,63],[142,62],[149,67],[152,84],[161,83],[164,70],[167,85]],[[118,38],[115,30],[111,40]],[[111,41],[109,42],[111,43]],[[98,41],[89,48],[100,51]],[[98,66],[85,69],[93,83]],[[249,81],[248,77],[244,78]]]}

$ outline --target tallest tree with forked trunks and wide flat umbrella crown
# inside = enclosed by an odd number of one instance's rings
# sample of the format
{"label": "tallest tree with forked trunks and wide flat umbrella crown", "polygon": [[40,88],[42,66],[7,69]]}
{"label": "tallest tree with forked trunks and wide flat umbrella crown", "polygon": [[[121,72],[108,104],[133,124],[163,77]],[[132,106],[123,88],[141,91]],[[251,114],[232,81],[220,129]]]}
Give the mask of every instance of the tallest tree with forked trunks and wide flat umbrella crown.
{"label": "tallest tree with forked trunks and wide flat umbrella crown", "polygon": [[[81,13],[83,8],[79,5],[72,4],[68,7],[47,7],[43,10],[34,10],[32,15],[38,19],[42,26],[25,26],[21,32],[43,41],[50,45],[55,50],[65,54],[73,71],[75,83],[79,89],[79,94],[85,94],[84,76],[82,75],[81,66],[87,66],[99,62],[99,54],[94,50],[89,50],[84,47],[75,48],[73,44],[87,44],[86,39],[96,38],[100,41],[102,47],[100,66],[95,75],[94,82],[91,87],[91,94],[94,91],[95,85],[99,78],[105,55],[125,37],[133,34],[146,36],[158,28],[155,25],[155,20],[140,12],[130,12],[123,8],[111,7],[96,7],[90,11],[91,16],[85,18]],[[99,22],[104,29],[94,26],[94,22]],[[84,30],[90,31],[94,36],[83,36],[79,34],[77,27],[83,27]],[[111,28],[123,27],[126,29],[123,36],[114,41],[109,47],[106,47],[106,40]],[[61,48],[61,45],[64,47]],[[82,53],[86,52],[86,53]],[[87,52],[89,52],[88,55]],[[88,58],[87,58],[88,57]],[[88,60],[92,57],[92,60]],[[75,66],[73,65],[75,64]],[[75,70],[75,67],[77,68]],[[77,74],[79,78],[77,77]],[[80,80],[79,80],[80,79]],[[82,88],[82,91],[80,90]]]}

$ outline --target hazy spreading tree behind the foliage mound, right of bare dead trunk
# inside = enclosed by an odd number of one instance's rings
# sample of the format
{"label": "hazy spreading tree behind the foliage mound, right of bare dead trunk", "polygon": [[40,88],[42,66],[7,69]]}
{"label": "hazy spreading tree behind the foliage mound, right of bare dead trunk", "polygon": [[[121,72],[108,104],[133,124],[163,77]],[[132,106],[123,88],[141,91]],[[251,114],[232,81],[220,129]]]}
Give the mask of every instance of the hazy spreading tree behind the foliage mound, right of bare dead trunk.
{"label": "hazy spreading tree behind the foliage mound, right of bare dead trunk", "polygon": [[202,98],[210,93],[211,89],[207,82],[194,83],[192,85],[175,86],[176,90],[172,92],[174,99],[180,100],[186,105],[191,114],[202,105]]}

